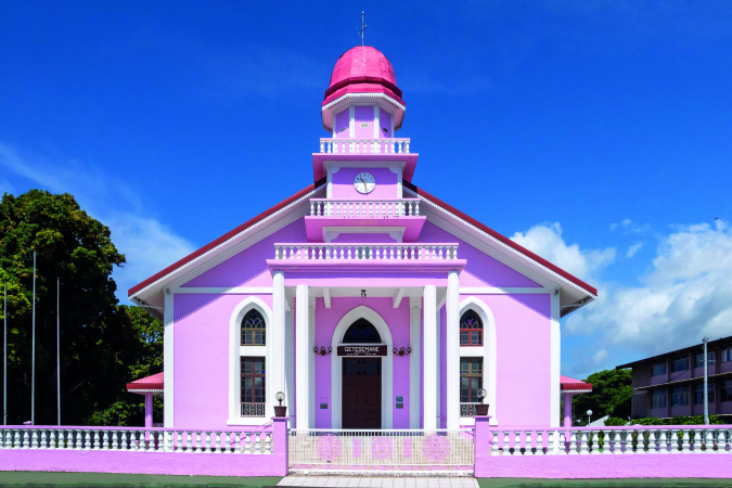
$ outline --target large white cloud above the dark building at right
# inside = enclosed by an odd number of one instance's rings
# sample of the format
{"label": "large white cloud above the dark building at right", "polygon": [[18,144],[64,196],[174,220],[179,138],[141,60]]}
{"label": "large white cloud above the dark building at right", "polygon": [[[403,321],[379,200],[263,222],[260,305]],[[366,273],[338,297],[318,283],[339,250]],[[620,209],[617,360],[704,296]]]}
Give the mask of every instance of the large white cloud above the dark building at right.
{"label": "large white cloud above the dark building at right", "polygon": [[732,334],[732,231],[677,227],[663,236],[641,286],[607,286],[607,295],[567,320],[617,347],[665,352]]}

